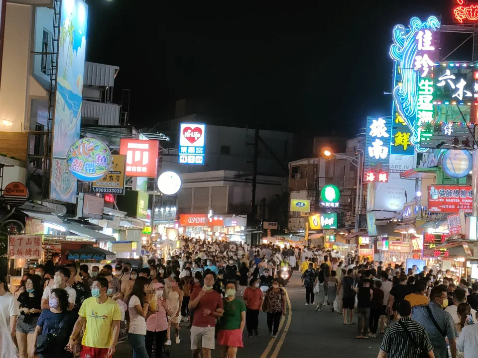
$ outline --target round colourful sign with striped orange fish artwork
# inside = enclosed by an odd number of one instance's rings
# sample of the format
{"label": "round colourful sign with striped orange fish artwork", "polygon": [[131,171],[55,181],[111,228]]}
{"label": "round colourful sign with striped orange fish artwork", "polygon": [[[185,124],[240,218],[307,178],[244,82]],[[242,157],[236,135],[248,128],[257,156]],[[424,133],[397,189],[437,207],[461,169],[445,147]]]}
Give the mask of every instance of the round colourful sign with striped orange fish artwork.
{"label": "round colourful sign with striped orange fish artwork", "polygon": [[73,143],[66,161],[70,173],[81,181],[103,178],[112,164],[110,149],[96,138],[82,138]]}

